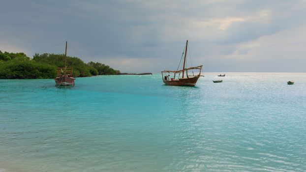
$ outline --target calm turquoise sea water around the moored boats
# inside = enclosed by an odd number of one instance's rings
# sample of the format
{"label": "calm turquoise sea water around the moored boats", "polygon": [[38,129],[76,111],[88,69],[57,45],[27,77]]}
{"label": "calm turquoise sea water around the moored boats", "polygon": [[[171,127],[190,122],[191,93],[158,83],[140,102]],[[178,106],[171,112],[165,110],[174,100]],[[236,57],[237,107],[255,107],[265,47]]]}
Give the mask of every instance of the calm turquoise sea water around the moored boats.
{"label": "calm turquoise sea water around the moored boats", "polygon": [[305,172],[306,73],[226,74],[0,80],[0,172]]}

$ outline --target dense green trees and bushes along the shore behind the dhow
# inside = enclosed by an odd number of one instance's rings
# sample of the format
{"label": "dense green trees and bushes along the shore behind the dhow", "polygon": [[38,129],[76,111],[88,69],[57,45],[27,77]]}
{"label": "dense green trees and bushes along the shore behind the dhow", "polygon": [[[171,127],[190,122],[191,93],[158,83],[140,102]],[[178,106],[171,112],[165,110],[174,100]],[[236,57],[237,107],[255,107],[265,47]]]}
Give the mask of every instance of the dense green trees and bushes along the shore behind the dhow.
{"label": "dense green trees and bushes along the shore behind the dhow", "polygon": [[[63,54],[35,54],[33,58],[24,53],[2,53],[0,51],[0,79],[55,78],[57,67],[64,67]],[[84,63],[78,57],[67,57],[67,67],[73,68],[74,77],[116,75],[108,65],[99,62]]]}

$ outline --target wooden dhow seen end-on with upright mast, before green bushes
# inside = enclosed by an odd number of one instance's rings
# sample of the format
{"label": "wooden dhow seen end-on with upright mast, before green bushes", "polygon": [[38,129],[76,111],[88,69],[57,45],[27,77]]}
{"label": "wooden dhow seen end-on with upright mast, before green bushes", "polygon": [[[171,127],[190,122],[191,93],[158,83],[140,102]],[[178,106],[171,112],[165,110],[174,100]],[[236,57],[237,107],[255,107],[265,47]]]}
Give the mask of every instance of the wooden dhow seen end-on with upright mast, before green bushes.
{"label": "wooden dhow seen end-on with upright mast, before green bushes", "polygon": [[74,86],[75,78],[72,77],[72,68],[67,68],[67,41],[65,47],[65,67],[58,67],[55,86]]}

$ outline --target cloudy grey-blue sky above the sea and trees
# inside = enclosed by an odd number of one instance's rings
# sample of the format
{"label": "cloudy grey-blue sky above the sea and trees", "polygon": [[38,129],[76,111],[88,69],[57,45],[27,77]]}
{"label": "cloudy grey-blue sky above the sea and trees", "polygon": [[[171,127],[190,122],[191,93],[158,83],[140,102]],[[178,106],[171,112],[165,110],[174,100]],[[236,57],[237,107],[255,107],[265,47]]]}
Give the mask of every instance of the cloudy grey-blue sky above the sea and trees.
{"label": "cloudy grey-blue sky above the sea and trees", "polygon": [[306,72],[306,0],[0,0],[0,51],[123,72]]}

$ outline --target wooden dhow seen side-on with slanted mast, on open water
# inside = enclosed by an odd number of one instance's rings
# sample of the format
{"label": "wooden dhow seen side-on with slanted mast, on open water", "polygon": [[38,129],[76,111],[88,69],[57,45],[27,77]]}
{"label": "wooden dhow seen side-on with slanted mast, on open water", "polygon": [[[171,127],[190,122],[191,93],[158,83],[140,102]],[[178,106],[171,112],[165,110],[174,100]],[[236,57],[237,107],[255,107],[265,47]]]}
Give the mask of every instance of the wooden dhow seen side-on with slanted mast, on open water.
{"label": "wooden dhow seen side-on with slanted mast, on open water", "polygon": [[[184,64],[183,64],[183,69],[182,70],[174,70],[174,71],[164,70],[164,71],[161,71],[162,81],[166,85],[169,85],[169,86],[195,86],[198,79],[200,78],[200,76],[202,76],[201,72],[202,72],[202,66],[203,65],[196,66],[196,67],[185,68],[187,47],[188,47],[188,40],[186,41],[186,47],[185,47],[184,52],[182,54],[182,57],[184,55]],[[181,57],[181,61],[182,61],[182,57]],[[180,61],[179,66],[181,65],[181,61]],[[178,67],[178,69],[179,69],[179,67]],[[199,73],[197,75],[194,75],[193,69],[198,69]],[[192,70],[192,75],[188,75],[188,71],[190,71],[190,70]],[[173,78],[171,78],[171,79],[169,79],[170,73],[173,74]],[[180,77],[181,73],[182,73],[182,77]],[[186,76],[184,76],[184,75],[186,75]]]}

